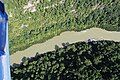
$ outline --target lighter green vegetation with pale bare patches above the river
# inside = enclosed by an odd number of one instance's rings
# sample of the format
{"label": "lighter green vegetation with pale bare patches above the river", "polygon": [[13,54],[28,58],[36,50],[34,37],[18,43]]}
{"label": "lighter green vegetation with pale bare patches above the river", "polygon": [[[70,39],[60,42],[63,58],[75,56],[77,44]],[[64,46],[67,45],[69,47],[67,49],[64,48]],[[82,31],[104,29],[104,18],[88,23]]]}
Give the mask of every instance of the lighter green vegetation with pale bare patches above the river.
{"label": "lighter green vegetation with pale bare patches above the river", "polygon": [[[25,7],[28,2],[32,7]],[[120,31],[120,0],[5,0],[5,5],[11,54],[67,30]]]}

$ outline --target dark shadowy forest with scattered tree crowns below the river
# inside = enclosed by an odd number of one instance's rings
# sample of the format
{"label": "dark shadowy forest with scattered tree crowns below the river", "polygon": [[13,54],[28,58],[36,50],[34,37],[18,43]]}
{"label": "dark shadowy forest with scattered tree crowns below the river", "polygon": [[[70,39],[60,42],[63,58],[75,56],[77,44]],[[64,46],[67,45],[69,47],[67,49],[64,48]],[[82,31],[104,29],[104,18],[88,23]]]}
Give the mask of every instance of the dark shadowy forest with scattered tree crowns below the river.
{"label": "dark shadowy forest with scattered tree crowns below the river", "polygon": [[12,80],[120,80],[120,42],[65,43],[11,66]]}

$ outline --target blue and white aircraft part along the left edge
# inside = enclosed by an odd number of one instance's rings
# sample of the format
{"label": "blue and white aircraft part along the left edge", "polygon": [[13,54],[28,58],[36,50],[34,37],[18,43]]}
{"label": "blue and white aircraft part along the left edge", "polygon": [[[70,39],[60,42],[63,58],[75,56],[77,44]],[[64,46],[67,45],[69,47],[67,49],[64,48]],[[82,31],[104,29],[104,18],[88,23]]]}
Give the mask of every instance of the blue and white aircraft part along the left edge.
{"label": "blue and white aircraft part along the left edge", "polygon": [[8,44],[8,16],[0,1],[0,80],[11,80]]}

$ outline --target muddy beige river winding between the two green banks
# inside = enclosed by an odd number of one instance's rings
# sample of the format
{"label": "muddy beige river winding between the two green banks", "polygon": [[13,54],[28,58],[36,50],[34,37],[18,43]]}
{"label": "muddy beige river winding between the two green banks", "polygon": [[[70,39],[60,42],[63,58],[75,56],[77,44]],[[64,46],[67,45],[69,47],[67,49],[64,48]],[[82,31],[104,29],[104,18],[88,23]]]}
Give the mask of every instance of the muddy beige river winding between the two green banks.
{"label": "muddy beige river winding between the two green banks", "polygon": [[81,32],[66,31],[61,33],[59,36],[55,36],[52,39],[47,40],[44,43],[38,43],[23,51],[17,51],[10,56],[10,61],[11,64],[20,63],[24,56],[33,57],[35,56],[36,52],[42,54],[48,51],[53,51],[55,45],[62,47],[62,43],[69,42],[71,44],[79,41],[87,41],[91,38],[95,40],[120,41],[120,32],[106,31],[100,28],[91,28]]}

